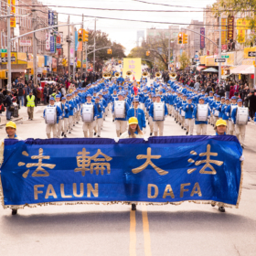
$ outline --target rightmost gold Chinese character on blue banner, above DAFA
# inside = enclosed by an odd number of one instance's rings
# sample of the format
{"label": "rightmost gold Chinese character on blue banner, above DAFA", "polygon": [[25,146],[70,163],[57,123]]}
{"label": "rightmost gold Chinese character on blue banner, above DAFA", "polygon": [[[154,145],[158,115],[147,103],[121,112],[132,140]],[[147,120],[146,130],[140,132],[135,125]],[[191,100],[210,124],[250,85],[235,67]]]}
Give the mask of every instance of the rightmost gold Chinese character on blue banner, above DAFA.
{"label": "rightmost gold Chinese character on blue banner, above DAFA", "polygon": [[[197,155],[197,153],[196,152],[190,152],[190,154],[191,155]],[[206,165],[204,165],[202,168],[201,168],[201,170],[200,170],[200,174],[207,174],[207,175],[216,175],[217,174],[217,172],[216,172],[216,170],[214,169],[214,167],[212,166],[212,165],[210,165],[210,164],[214,164],[214,165],[223,165],[223,162],[222,161],[218,161],[218,160],[211,160],[210,159],[210,156],[218,156],[218,153],[211,153],[210,152],[210,144],[208,144],[208,146],[207,146],[207,152],[204,152],[204,153],[201,153],[201,154],[199,154],[200,156],[207,156],[207,159],[206,160],[200,160],[200,161],[197,161],[196,163],[195,163],[195,165],[201,165],[201,164],[206,164]],[[187,162],[189,162],[189,163],[194,163],[195,161],[193,160],[193,159],[188,159],[187,160]],[[211,169],[211,171],[206,171],[206,168],[210,168]],[[187,170],[187,174],[191,174],[191,173],[193,173],[194,171],[196,171],[197,170],[197,168],[193,168],[193,169],[188,169]]]}

